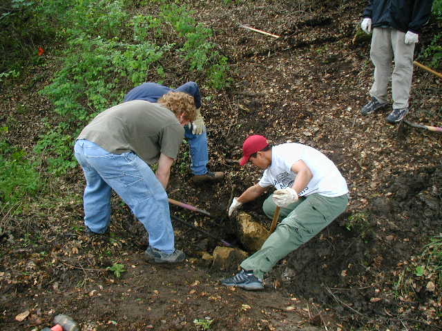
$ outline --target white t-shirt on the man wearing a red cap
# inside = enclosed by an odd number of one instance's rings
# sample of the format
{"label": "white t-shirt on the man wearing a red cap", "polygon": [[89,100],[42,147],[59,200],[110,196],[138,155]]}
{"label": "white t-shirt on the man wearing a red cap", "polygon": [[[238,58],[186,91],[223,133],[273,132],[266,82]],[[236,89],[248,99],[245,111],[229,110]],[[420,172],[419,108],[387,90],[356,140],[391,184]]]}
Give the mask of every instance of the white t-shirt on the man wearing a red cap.
{"label": "white t-shirt on the man wearing a red cap", "polygon": [[307,164],[313,178],[307,187],[298,192],[300,197],[318,193],[325,197],[339,197],[348,192],[347,183],[336,165],[323,153],[300,143],[283,143],[271,148],[271,165],[262,174],[258,185],[262,188],[274,186],[277,190],[291,187],[296,172],[291,166],[302,160]]}

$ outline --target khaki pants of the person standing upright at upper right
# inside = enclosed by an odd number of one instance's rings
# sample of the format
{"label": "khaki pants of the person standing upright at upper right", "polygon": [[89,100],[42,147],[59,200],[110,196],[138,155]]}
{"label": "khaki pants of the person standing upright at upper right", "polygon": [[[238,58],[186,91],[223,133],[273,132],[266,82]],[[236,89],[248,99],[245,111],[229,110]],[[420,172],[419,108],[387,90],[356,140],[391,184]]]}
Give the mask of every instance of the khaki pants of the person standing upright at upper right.
{"label": "khaki pants of the person standing upright at upper right", "polygon": [[[370,59],[374,64],[374,83],[370,95],[387,102],[387,86],[392,79],[393,109],[407,108],[413,77],[414,43],[404,42],[405,33],[392,28],[374,28]],[[392,74],[392,58],[394,70]]]}

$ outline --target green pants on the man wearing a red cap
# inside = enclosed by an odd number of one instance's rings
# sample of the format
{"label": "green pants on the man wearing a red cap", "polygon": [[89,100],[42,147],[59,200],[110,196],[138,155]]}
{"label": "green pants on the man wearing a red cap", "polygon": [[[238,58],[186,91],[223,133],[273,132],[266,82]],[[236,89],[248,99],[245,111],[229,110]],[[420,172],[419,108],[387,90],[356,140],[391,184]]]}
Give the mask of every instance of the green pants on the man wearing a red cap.
{"label": "green pants on the man wearing a red cap", "polygon": [[[270,219],[276,210],[276,205],[271,199],[272,195],[262,205],[262,209]],[[311,194],[308,197],[301,197],[286,208],[281,208],[280,217],[283,218],[281,223],[258,252],[242,261],[241,268],[253,270],[256,277],[263,279],[264,274],[269,272],[280,259],[303,243],[307,243],[342,214],[347,203],[347,194],[333,198]]]}

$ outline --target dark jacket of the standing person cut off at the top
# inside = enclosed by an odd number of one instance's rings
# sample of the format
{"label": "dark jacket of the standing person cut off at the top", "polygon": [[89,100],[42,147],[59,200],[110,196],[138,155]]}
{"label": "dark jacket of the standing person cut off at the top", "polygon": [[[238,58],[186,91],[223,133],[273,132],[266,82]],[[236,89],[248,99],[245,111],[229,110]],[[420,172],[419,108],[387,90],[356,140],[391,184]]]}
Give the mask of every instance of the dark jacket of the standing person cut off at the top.
{"label": "dark jacket of the standing person cut off at the top", "polygon": [[372,19],[372,27],[390,26],[396,30],[420,33],[430,19],[433,0],[370,0],[363,17]]}

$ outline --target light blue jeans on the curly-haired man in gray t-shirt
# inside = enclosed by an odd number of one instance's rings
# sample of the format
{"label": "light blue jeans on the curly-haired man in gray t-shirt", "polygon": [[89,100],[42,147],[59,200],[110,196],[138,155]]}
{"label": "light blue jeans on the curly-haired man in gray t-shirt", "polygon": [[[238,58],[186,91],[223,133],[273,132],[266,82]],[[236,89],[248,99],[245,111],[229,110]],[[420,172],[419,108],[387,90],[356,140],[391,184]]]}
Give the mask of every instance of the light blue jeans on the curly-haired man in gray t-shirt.
{"label": "light blue jeans on the curly-haired man in gray t-shirt", "polygon": [[151,168],[133,152],[111,154],[86,139],[75,143],[75,158],[86,177],[84,223],[93,232],[106,232],[111,223],[111,190],[131,208],[149,234],[149,245],[174,251],[167,193]]}

